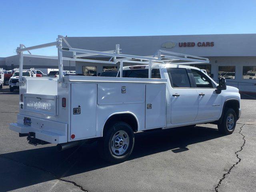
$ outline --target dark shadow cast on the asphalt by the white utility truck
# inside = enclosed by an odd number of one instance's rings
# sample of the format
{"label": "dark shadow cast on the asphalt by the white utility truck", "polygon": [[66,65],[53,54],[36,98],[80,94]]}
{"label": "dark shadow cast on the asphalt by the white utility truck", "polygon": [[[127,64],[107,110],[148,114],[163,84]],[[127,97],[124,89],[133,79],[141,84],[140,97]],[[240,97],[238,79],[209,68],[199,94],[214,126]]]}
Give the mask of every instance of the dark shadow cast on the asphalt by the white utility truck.
{"label": "dark shadow cast on the asphalt by the white utility truck", "polygon": [[[129,160],[168,150],[170,150],[170,153],[184,152],[189,150],[187,146],[190,144],[216,139],[221,136],[217,129],[199,126],[139,132],[135,134],[134,152]],[[1,154],[0,158],[14,160],[20,164],[44,170],[44,172],[51,173],[56,178],[86,173],[111,165],[99,158],[96,142],[62,152],[57,152],[55,146],[46,146],[33,150]],[[2,164],[1,169],[5,175],[0,181],[2,182],[1,191],[14,190],[54,179],[35,174],[31,180],[22,176],[22,173],[18,173],[15,169],[5,170],[7,168],[4,164]]]}

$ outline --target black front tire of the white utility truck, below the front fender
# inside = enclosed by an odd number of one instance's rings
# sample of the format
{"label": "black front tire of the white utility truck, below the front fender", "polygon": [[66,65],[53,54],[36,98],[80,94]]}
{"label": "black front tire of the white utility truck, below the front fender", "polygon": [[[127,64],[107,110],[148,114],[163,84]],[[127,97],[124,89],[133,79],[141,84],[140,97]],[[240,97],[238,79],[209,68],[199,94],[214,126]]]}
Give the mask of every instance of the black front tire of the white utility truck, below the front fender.
{"label": "black front tire of the white utility truck, below the front fender", "polygon": [[[232,120],[233,124],[232,124],[232,127],[230,126],[228,128],[228,122],[230,122],[230,120],[228,120],[228,118],[230,118],[230,117],[233,117],[233,120]],[[234,132],[235,128],[236,128],[236,112],[232,108],[225,108],[222,122],[221,122],[221,124],[218,124],[218,130],[222,134],[229,135]]]}

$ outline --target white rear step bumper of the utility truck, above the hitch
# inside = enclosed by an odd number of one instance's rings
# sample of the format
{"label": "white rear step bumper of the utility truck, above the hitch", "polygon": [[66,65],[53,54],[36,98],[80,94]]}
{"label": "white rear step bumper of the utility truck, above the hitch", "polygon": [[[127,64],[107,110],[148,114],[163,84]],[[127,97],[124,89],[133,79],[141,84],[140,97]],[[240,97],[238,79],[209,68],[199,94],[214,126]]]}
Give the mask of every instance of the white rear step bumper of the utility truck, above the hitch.
{"label": "white rear step bumper of the utility truck, above the hitch", "polygon": [[[29,116],[26,116],[29,117]],[[49,120],[44,120],[40,118],[31,118],[31,126],[24,125],[23,119],[24,116],[18,114],[18,123],[11,123],[9,125],[10,130],[13,130],[18,133],[27,134],[29,132],[35,133],[35,138],[53,143],[66,143],[67,142],[67,133],[68,125],[60,122],[54,122]]]}

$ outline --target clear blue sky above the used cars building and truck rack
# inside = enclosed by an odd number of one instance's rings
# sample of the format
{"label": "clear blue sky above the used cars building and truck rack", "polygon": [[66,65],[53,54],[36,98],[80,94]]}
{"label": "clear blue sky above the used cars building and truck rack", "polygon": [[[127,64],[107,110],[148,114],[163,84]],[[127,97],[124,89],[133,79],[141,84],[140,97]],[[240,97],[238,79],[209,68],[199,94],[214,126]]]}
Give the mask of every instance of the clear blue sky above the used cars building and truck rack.
{"label": "clear blue sky above the used cars building and truck rack", "polygon": [[[256,0],[0,0],[0,57],[64,36],[256,33]],[[253,42],[256,43],[256,42]],[[32,50],[56,55],[56,48]]]}

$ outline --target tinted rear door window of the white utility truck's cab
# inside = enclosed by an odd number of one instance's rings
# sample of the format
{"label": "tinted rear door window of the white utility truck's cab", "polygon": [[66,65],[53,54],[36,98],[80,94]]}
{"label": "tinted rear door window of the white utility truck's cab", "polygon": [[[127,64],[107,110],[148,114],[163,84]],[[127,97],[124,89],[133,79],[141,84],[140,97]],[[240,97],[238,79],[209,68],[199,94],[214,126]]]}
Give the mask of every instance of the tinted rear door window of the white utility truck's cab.
{"label": "tinted rear door window of the white utility truck's cab", "polygon": [[173,88],[190,88],[191,83],[185,68],[167,68],[168,76]]}

